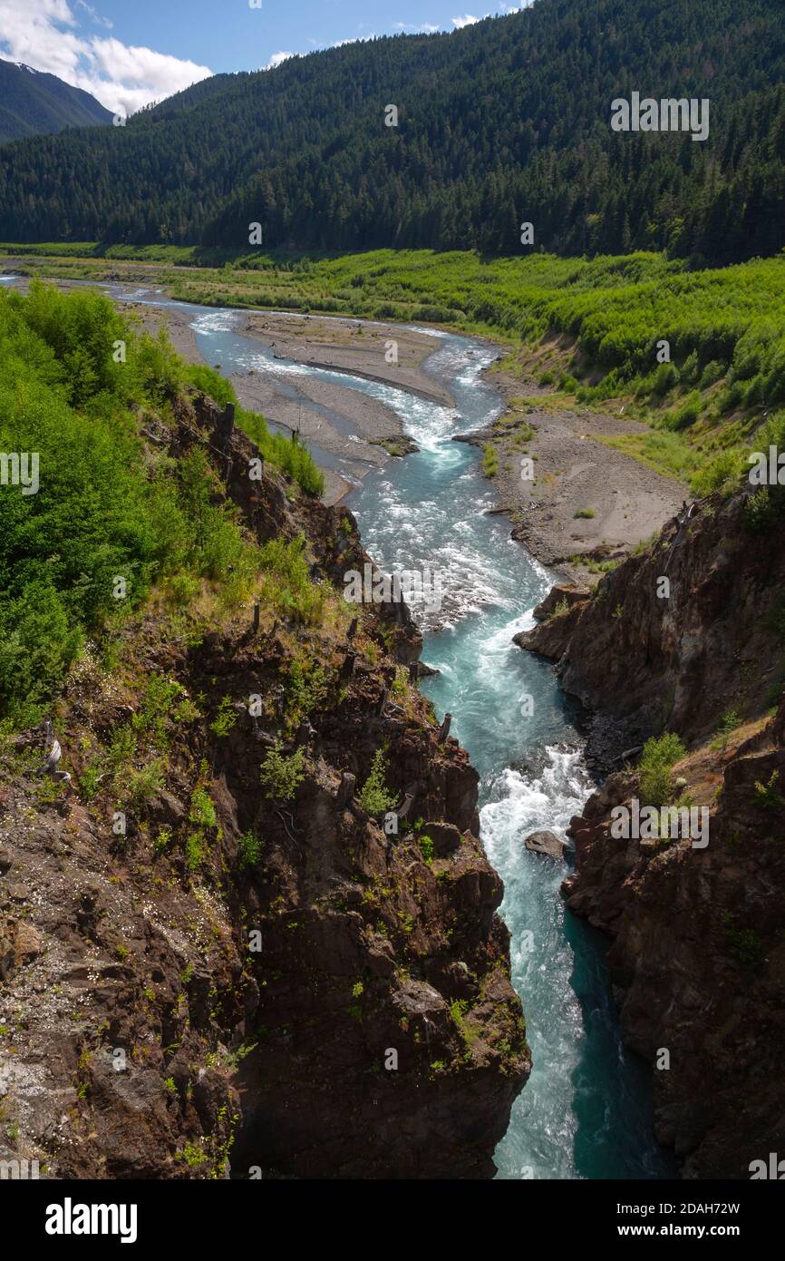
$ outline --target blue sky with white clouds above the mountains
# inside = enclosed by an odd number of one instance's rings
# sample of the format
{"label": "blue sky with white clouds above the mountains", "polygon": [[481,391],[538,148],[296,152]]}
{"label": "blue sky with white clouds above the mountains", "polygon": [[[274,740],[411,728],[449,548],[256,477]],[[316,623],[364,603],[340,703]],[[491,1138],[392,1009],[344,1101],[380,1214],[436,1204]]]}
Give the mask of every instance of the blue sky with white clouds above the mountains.
{"label": "blue sky with white clouds above the mountains", "polygon": [[270,69],[374,35],[456,30],[533,3],[0,0],[0,58],[57,74],[127,115],[210,74]]}

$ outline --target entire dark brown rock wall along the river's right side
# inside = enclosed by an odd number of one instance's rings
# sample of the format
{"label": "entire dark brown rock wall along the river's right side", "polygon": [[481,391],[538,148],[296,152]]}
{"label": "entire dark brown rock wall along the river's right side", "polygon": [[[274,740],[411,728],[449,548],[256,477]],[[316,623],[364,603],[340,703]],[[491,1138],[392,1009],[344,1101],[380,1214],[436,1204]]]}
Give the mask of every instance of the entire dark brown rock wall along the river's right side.
{"label": "entire dark brown rock wall along the river's right side", "polygon": [[[672,523],[593,599],[519,637],[595,711],[600,760],[663,729],[690,747],[674,777],[709,811],[708,845],[615,839],[612,808],[641,797],[638,772],[619,770],[572,820],[563,894],[612,938],[624,1038],[653,1067],[656,1135],[692,1178],[748,1178],[785,1141],[785,701],[766,716],[785,530],[751,532],[746,499],[703,504],[675,549]],[[712,739],[730,710],[735,730]]]}

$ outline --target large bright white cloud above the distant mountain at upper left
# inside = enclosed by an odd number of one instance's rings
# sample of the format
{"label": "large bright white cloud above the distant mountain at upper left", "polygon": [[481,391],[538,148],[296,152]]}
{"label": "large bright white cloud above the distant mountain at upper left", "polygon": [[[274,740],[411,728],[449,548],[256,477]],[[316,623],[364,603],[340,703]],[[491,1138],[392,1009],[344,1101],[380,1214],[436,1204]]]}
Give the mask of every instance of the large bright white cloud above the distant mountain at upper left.
{"label": "large bright white cloud above the distant mountain at upper left", "polygon": [[[111,25],[82,0],[77,8],[88,10],[93,23]],[[151,48],[82,34],[81,20],[68,0],[25,0],[24,6],[0,0],[0,57],[57,74],[113,113],[132,113],[213,73]]]}

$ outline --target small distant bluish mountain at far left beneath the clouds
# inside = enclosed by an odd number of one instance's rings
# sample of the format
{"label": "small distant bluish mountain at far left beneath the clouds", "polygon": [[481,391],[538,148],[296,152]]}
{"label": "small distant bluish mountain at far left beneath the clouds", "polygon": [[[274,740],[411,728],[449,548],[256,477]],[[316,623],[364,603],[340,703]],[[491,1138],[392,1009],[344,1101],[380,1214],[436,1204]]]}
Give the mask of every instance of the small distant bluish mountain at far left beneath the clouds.
{"label": "small distant bluish mountain at far left beneath the clouds", "polygon": [[24,136],[111,122],[95,96],[30,66],[0,61],[0,144]]}

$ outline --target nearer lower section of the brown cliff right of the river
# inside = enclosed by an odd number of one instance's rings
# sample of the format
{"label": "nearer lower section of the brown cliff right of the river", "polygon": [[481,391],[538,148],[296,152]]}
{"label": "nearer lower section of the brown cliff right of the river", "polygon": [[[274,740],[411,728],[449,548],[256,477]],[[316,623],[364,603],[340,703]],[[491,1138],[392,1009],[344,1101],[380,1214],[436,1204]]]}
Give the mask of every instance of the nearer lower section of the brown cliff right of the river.
{"label": "nearer lower section of the brown cliff right of the river", "polygon": [[611,807],[640,793],[634,773],[609,777],[568,834],[562,892],[614,938],[624,1039],[653,1067],[656,1136],[690,1178],[748,1178],[785,1137],[784,736],[785,702],[675,767],[711,810],[706,849],[612,837]]}

